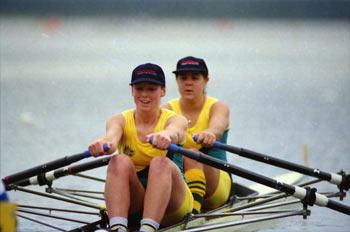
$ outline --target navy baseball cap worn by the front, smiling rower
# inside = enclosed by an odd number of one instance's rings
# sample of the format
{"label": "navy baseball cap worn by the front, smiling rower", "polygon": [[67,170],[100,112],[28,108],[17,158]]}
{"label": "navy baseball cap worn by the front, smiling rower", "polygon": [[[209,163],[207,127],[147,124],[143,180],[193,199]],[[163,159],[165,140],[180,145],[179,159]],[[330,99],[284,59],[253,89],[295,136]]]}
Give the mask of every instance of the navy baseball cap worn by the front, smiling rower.
{"label": "navy baseball cap worn by the front, smiling rower", "polygon": [[130,85],[140,82],[151,82],[165,87],[165,76],[162,68],[151,63],[140,64],[132,71]]}

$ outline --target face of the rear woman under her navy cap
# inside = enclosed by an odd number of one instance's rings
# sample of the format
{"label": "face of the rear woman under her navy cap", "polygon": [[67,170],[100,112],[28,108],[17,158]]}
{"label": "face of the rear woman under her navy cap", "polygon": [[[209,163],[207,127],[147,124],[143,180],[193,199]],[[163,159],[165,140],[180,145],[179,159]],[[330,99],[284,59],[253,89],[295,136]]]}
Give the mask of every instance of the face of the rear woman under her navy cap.
{"label": "face of the rear woman under her navy cap", "polygon": [[181,97],[196,99],[204,94],[209,77],[205,78],[201,72],[180,72],[176,76]]}

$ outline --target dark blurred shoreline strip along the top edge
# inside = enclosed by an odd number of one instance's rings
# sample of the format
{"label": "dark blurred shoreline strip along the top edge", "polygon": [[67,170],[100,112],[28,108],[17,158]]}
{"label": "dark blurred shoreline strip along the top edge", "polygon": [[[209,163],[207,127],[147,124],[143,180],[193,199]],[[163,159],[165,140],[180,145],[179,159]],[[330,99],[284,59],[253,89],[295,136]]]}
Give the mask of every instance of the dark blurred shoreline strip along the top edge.
{"label": "dark blurred shoreline strip along the top edge", "polygon": [[2,0],[1,14],[166,18],[349,18],[346,0]]}

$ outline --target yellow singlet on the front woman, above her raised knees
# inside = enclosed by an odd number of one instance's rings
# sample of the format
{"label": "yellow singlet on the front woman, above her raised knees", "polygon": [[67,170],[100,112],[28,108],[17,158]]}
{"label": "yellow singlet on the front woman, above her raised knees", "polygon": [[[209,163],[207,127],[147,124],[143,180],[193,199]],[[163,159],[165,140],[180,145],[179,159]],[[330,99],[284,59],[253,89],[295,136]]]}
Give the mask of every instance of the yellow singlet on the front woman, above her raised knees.
{"label": "yellow singlet on the front woman, above her raised knees", "polygon": [[[125,154],[130,157],[137,172],[149,166],[154,157],[167,155],[167,150],[159,150],[152,147],[150,143],[142,143],[140,141],[139,137],[137,136],[133,109],[126,110],[122,112],[122,114],[125,118],[125,128],[123,136],[118,144],[118,152],[119,154]],[[162,109],[162,113],[159,117],[154,132],[164,130],[167,120],[173,115],[175,115],[174,112],[167,109]]]}

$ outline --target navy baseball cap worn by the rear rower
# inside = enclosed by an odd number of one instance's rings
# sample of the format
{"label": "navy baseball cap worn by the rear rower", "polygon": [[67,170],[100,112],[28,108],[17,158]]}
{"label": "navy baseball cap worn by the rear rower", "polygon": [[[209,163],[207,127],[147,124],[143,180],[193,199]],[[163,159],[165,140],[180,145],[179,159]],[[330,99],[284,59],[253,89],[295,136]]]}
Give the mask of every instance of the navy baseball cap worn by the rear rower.
{"label": "navy baseball cap worn by the rear rower", "polygon": [[198,71],[204,74],[204,76],[208,76],[208,68],[205,64],[205,61],[201,58],[196,58],[193,56],[187,56],[180,59],[177,62],[176,70],[173,73],[178,74],[179,72],[186,71]]}

